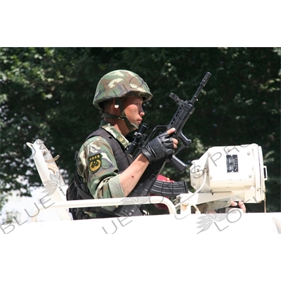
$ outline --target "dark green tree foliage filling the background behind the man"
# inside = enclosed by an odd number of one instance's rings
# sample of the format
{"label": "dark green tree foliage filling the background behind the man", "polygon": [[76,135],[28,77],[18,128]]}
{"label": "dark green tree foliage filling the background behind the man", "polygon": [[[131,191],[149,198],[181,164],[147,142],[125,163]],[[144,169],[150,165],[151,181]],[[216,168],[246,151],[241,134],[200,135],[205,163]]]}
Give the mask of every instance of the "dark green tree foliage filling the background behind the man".
{"label": "dark green tree foliage filling the background behind the man", "polygon": [[[171,92],[192,98],[205,72],[212,76],[185,124],[192,145],[178,155],[190,164],[208,148],[257,143],[268,167],[267,209],[280,211],[280,48],[0,48],[0,193],[41,185],[30,148],[40,138],[63,171],[100,123],[92,105],[103,74],[138,73],[154,97],[144,121],[168,124],[177,109]],[[164,173],[187,179],[167,165]],[[251,207],[250,207],[251,208]]]}

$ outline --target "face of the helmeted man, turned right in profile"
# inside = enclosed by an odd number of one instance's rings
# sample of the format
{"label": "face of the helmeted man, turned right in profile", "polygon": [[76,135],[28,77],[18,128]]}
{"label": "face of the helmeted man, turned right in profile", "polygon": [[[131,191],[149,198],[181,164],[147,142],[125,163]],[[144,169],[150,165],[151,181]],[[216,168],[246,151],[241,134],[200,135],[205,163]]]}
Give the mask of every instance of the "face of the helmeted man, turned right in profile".
{"label": "face of the helmeted man, turned right in profile", "polygon": [[141,124],[143,121],[143,98],[139,97],[128,97],[123,100],[124,110],[126,117],[129,119],[129,122],[133,124]]}

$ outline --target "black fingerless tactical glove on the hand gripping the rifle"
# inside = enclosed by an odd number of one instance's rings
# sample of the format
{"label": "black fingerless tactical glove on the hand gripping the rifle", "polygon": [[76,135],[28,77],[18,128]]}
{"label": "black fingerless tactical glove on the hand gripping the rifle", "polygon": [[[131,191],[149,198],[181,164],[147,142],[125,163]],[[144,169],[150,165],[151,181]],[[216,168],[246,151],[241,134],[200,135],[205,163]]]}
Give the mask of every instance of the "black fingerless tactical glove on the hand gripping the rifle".
{"label": "black fingerless tactical glove on the hand gripping the rifle", "polygon": [[141,148],[141,152],[148,158],[150,164],[167,155],[174,153],[174,143],[167,132],[153,138],[147,145]]}

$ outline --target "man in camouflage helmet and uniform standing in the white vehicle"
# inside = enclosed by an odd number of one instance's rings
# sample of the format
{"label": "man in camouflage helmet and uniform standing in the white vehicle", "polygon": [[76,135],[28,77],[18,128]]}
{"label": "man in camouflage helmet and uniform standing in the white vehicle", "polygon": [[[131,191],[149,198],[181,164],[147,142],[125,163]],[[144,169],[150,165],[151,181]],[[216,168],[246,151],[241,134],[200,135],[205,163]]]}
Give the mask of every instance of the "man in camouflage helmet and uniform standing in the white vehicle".
{"label": "man in camouflage helmet and uniform standing in the white vehicle", "polygon": [[[138,129],[145,112],[143,103],[152,98],[148,85],[138,74],[115,70],[105,74],[96,89],[93,105],[102,114],[100,129],[80,148],[77,171],[94,199],[126,197],[136,186],[148,164],[174,153],[178,141],[169,135],[175,129],[152,139],[132,159],[124,151],[129,146],[126,135]],[[102,136],[103,135],[103,136]],[[117,150],[112,149],[113,143]],[[121,149],[118,149],[121,148]],[[84,210],[78,218],[114,216],[116,207]]]}

